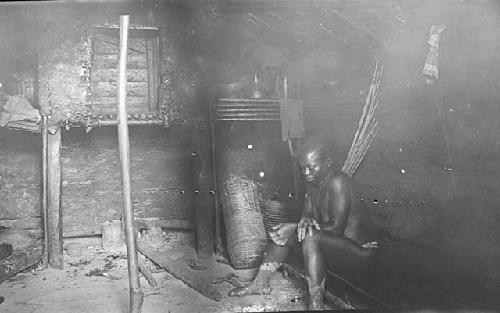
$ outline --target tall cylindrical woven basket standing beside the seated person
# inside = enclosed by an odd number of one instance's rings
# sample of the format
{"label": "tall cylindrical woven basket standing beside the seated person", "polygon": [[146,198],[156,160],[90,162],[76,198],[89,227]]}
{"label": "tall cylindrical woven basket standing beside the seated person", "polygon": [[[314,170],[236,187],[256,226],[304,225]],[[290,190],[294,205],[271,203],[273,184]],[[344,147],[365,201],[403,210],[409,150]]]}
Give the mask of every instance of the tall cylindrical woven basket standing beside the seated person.
{"label": "tall cylindrical woven basket standing beside the seated person", "polygon": [[231,264],[235,269],[259,266],[267,236],[255,183],[231,175],[223,184],[221,199]]}

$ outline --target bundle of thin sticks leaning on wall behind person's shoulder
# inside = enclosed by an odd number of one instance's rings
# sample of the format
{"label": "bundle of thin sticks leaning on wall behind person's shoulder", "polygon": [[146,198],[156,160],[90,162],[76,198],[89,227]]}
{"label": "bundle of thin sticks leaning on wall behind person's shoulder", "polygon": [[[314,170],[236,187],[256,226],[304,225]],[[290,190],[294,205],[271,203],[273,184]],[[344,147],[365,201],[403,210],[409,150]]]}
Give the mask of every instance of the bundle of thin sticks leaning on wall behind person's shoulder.
{"label": "bundle of thin sticks leaning on wall behind person's shoulder", "polygon": [[379,66],[377,61],[370,90],[368,91],[363,107],[363,113],[359,119],[358,129],[354,134],[354,139],[352,140],[351,148],[347,154],[347,159],[342,166],[342,172],[346,173],[349,177],[353,176],[356,172],[356,169],[363,161],[377,134],[378,121],[374,118],[374,114],[379,102],[378,90],[380,87],[382,69],[383,66]]}

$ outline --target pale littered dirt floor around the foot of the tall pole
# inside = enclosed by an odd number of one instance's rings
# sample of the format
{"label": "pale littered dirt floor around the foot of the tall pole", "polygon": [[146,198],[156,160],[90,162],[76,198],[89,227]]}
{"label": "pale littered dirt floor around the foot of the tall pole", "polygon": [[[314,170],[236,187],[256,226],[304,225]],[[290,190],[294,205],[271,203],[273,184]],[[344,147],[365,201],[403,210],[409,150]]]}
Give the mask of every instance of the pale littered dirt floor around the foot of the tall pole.
{"label": "pale littered dirt floor around the foot of the tall pole", "polygon": [[[189,248],[169,251],[169,255],[177,259],[196,256]],[[229,273],[235,273],[239,277],[248,276],[248,271],[235,271],[215,259],[196,261],[206,267],[204,270],[196,270],[197,274],[202,274],[210,282]],[[144,313],[229,313],[306,309],[306,285],[300,278],[284,278],[281,273],[276,273],[271,281],[271,295],[243,298],[227,296],[233,288],[229,282],[213,284],[223,295],[222,300],[216,302],[154,264],[148,262],[148,267],[158,283],[158,288],[149,286],[141,276],[141,288],[145,294],[142,310]],[[0,304],[0,312],[128,312],[128,283],[127,260],[123,253],[110,254],[98,245],[87,246],[77,255],[68,255],[65,251],[64,270],[43,269],[40,266],[19,273],[0,284],[0,296],[4,298]]]}

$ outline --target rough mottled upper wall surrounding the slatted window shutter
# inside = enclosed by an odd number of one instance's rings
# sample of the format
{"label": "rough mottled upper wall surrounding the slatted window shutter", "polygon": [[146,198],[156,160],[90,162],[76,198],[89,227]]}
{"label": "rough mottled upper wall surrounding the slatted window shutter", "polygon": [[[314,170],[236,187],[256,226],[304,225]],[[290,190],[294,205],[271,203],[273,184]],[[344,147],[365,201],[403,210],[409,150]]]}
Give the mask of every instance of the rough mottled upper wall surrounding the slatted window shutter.
{"label": "rough mottled upper wall surrounding the slatted window shutter", "polygon": [[[53,124],[96,123],[96,115],[102,112],[93,108],[92,101],[90,73],[97,70],[97,64],[92,64],[94,27],[117,27],[123,12],[129,12],[132,28],[159,29],[159,64],[152,69],[158,71],[159,103],[151,111],[161,113],[167,124],[196,120],[200,115],[196,100],[203,83],[194,66],[196,54],[189,49],[192,36],[188,9],[156,2],[81,6],[54,3],[39,9],[38,14],[33,13],[37,25],[44,29],[37,38],[39,102]],[[130,111],[137,113],[133,107]],[[103,118],[108,117],[103,114],[99,119]]]}

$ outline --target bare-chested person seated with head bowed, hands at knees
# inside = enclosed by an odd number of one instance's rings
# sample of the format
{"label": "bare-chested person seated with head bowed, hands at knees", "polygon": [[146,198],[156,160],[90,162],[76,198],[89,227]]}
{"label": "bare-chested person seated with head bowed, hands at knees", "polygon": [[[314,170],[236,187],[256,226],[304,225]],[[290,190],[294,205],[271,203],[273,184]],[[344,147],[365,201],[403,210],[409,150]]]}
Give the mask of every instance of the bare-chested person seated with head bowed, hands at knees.
{"label": "bare-chested person seated with head bowed, hands at knees", "polygon": [[351,179],[334,169],[332,147],[321,135],[304,141],[297,152],[306,182],[301,219],[274,227],[257,276],[229,296],[269,294],[271,275],[299,246],[308,276],[309,310],[321,310],[326,268],[362,271],[371,263],[377,243],[367,243],[367,216]]}

